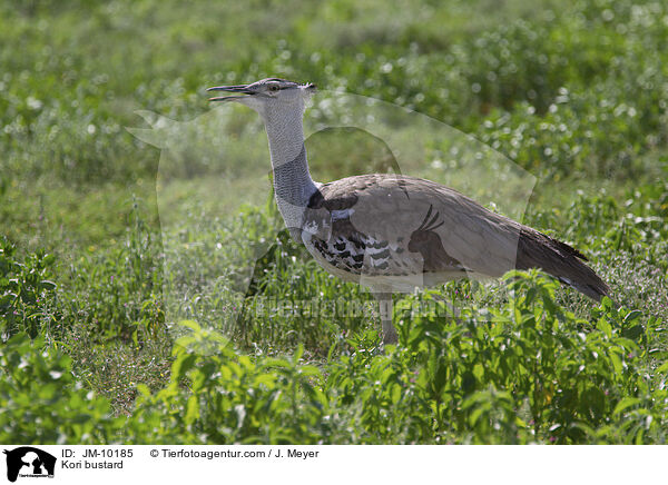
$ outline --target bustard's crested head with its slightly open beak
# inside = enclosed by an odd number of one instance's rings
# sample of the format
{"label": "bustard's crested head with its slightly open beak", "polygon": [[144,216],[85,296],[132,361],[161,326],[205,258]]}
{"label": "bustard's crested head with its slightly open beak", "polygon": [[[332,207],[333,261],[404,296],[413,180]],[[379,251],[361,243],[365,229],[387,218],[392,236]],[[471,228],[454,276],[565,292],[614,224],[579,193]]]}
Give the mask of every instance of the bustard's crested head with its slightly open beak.
{"label": "bustard's crested head with its slightly open beak", "polygon": [[303,113],[305,101],[315,92],[315,85],[299,85],[285,79],[268,78],[252,85],[217,86],[207,91],[225,91],[232,96],[210,98],[209,101],[234,101],[246,105],[263,118],[272,113],[299,111]]}

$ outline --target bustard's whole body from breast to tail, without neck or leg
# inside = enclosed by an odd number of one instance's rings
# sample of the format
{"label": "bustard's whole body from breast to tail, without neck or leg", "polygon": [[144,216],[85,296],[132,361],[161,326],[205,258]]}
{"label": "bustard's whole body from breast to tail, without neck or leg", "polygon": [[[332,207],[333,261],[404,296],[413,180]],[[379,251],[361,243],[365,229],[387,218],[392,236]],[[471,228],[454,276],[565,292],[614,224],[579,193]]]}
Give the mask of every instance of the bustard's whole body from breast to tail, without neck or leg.
{"label": "bustard's whole body from breast to tail, without neck or leg", "polygon": [[372,174],[324,184],[302,229],[327,270],[372,287],[411,291],[540,267],[592,298],[608,293],[576,249],[420,178]]}

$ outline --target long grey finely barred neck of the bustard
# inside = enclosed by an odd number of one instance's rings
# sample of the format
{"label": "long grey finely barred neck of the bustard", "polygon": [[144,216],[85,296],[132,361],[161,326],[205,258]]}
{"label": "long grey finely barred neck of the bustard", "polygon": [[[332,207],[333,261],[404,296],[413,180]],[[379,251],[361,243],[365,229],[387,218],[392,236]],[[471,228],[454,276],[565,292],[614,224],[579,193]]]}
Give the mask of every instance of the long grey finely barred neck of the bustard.
{"label": "long grey finely barred neck of the bustard", "polygon": [[308,171],[302,116],[302,112],[295,112],[289,117],[283,115],[281,119],[272,119],[271,116],[265,119],[276,204],[285,225],[296,238],[299,237],[304,210],[317,190]]}

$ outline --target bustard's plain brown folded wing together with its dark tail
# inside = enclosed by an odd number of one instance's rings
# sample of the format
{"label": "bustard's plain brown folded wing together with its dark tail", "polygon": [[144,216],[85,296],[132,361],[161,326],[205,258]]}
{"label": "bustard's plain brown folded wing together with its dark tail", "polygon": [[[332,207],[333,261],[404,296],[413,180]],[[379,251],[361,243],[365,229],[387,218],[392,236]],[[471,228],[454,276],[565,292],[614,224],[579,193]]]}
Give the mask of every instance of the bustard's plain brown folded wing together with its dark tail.
{"label": "bustard's plain brown folded wing together with its dark tail", "polygon": [[372,255],[386,248],[391,270],[466,270],[498,277],[513,268],[539,267],[592,298],[609,291],[570,246],[430,180],[380,174],[348,177],[322,186],[312,207],[332,215],[332,240],[376,245]]}

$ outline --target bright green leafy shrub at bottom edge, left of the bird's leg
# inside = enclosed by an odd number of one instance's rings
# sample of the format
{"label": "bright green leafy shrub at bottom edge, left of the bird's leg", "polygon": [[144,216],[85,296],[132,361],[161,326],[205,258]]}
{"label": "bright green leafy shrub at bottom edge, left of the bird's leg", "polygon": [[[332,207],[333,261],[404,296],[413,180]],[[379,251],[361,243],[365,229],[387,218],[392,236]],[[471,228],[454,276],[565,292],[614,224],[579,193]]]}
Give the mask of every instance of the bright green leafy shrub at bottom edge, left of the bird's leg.
{"label": "bright green leafy shrub at bottom edge, left of the bird's leg", "polygon": [[141,396],[129,419],[135,443],[308,444],[326,441],[321,370],[291,359],[235,353],[214,330],[185,323],[169,385]]}

